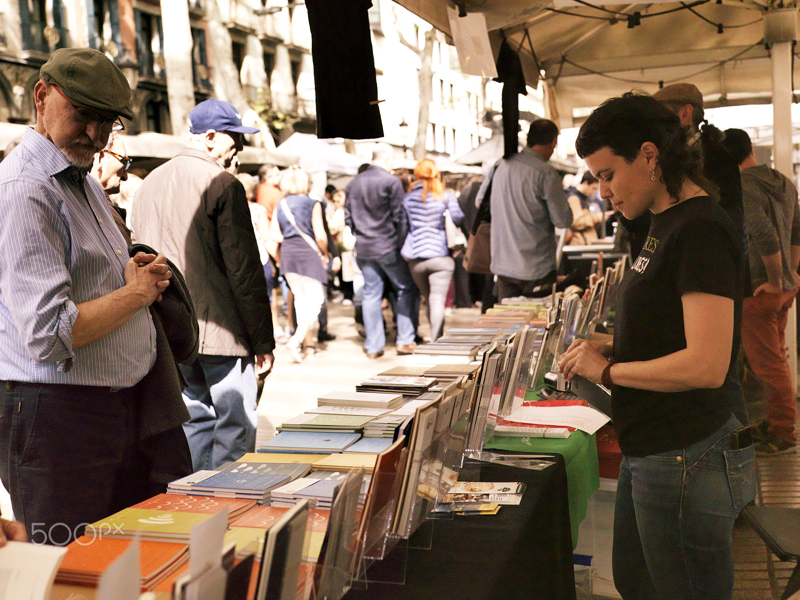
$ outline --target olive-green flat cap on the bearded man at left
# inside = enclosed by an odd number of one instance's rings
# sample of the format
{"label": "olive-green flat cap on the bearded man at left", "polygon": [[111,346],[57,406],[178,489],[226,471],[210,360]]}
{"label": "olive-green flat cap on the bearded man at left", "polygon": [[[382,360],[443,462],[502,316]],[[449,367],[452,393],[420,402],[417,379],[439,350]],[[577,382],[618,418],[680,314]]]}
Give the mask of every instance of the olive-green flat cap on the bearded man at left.
{"label": "olive-green flat cap on the bearded man at left", "polygon": [[99,50],[59,48],[42,65],[39,76],[61,88],[75,106],[134,118],[128,80]]}

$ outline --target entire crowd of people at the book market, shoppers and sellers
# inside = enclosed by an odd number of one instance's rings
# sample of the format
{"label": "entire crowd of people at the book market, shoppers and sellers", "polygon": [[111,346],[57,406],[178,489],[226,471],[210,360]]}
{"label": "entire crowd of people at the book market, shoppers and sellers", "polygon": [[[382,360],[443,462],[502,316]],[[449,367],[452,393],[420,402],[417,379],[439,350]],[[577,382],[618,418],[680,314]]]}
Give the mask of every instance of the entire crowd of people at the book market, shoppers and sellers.
{"label": "entire crowd of people at the book market, shoppers and sellers", "polygon": [[[383,143],[324,196],[298,166],[239,174],[243,136],[258,130],[212,98],[191,111],[187,146],[119,206],[130,97],[105,54],[56,50],[34,88],[36,125],[0,165],[0,478],[19,521],[0,520],[0,544],[35,524],[63,545],[253,451],[275,340],[296,362],[313,356],[334,337],[334,288],[362,321],[367,357],[385,350],[385,300],[395,352],[411,354],[422,302],[435,341],[451,283],[457,297],[470,288],[451,227],[491,222],[490,274],[471,282],[488,305],[495,292],[549,293],[556,229],[586,245],[613,216],[633,258],[614,342],[578,340],[559,368],[611,390],[623,454],[614,582],[623,598],[730,598],[754,450],[797,443],[783,329],[800,289],[800,208],[745,132],[704,122],[695,86],[594,110],[576,144],[588,171],[566,190],[549,162],[558,127],[538,119],[521,152],[458,197],[429,158],[394,174]],[[766,385],[758,424],[740,340]]]}

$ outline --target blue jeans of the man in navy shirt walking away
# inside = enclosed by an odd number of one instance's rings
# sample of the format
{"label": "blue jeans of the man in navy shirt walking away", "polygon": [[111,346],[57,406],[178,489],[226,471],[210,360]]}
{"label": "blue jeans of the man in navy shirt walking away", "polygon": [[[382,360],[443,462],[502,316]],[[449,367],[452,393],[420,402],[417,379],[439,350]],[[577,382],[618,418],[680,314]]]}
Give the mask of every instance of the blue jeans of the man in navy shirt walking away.
{"label": "blue jeans of the man in navy shirt walking away", "polygon": [[419,321],[419,290],[414,285],[406,261],[398,250],[384,254],[380,258],[357,257],[358,267],[364,274],[364,299],[362,311],[366,342],[364,350],[367,354],[381,352],[386,346],[386,334],[383,332],[383,278],[385,274],[398,296],[398,346],[414,343]]}

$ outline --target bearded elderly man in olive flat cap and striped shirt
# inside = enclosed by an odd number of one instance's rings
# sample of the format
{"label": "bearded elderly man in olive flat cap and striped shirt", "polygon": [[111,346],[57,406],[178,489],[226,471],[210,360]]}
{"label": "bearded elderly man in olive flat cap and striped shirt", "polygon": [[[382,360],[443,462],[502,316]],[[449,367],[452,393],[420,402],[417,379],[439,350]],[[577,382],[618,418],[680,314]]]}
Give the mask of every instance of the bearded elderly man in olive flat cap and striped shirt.
{"label": "bearded elderly man in olive flat cap and striped shirt", "polygon": [[171,273],[162,254],[129,258],[86,176],[134,116],[122,72],[56,50],[34,102],[36,126],[0,165],[0,477],[31,541],[62,546],[149,495],[136,386]]}

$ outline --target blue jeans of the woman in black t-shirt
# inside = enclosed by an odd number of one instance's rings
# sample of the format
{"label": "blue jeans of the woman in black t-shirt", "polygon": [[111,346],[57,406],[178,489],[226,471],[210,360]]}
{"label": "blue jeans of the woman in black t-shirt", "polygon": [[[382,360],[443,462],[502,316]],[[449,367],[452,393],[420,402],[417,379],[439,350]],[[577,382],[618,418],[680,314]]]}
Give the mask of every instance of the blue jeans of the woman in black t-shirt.
{"label": "blue jeans of the woman in black t-shirt", "polygon": [[734,520],[755,497],[753,446],[729,446],[738,426],[731,416],[692,446],[622,458],[612,561],[625,600],[731,597]]}

